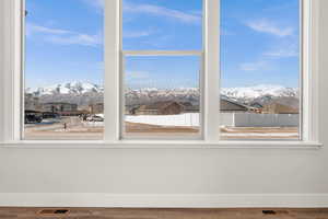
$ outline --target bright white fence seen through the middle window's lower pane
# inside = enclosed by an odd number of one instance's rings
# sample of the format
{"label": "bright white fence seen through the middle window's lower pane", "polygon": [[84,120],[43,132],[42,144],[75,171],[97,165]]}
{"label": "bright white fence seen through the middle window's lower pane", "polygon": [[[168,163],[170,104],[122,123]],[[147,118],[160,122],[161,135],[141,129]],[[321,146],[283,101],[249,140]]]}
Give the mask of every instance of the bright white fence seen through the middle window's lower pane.
{"label": "bright white fence seen through the middle window's lower pane", "polygon": [[199,126],[198,113],[186,113],[178,115],[138,115],[125,116],[125,120],[129,123],[140,123],[157,126]]}

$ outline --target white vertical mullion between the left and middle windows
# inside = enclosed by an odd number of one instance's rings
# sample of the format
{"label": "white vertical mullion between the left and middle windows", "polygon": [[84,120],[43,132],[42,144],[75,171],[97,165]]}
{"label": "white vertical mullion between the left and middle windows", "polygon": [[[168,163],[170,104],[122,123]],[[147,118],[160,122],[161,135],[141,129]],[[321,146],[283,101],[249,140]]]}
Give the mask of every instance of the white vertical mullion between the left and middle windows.
{"label": "white vertical mullion between the left and middle windows", "polygon": [[105,1],[104,111],[106,141],[119,139],[120,0]]}

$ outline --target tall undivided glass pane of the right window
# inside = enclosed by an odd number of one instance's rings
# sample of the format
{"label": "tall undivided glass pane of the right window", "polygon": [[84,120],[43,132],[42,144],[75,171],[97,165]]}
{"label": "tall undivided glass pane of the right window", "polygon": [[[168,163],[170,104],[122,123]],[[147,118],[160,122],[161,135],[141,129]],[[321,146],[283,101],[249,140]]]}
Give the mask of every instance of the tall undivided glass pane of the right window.
{"label": "tall undivided glass pane of the right window", "polygon": [[300,139],[298,0],[221,0],[223,139]]}

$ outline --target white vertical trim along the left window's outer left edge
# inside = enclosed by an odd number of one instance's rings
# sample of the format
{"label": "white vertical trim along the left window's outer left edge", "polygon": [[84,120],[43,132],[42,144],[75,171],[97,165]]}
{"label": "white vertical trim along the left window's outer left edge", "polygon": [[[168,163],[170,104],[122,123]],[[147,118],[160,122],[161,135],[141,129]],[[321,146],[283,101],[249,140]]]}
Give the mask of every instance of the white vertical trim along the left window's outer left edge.
{"label": "white vertical trim along the left window's outer left edge", "polygon": [[20,140],[21,1],[3,1],[2,141]]}

